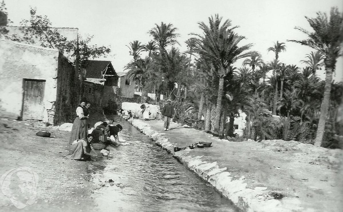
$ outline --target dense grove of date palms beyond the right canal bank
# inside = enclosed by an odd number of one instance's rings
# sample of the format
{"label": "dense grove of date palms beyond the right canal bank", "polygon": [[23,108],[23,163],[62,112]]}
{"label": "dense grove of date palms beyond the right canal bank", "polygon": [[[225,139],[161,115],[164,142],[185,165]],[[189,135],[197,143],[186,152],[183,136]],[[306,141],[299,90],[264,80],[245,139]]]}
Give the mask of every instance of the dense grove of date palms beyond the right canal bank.
{"label": "dense grove of date palms beyond the right canal bank", "polygon": [[[162,105],[158,97],[165,94],[174,101],[174,120],[194,128],[237,140],[231,137],[234,118],[241,110],[247,114],[245,138],[337,148],[333,135],[343,133],[342,123],[336,121],[343,84],[332,82],[332,73],[340,56],[342,15],[332,8],[330,17],[318,12],[315,18],[305,18],[313,31],[295,29],[308,38],[288,40],[314,49],[300,61],[305,68],[279,59],[287,50],[279,41],[267,49],[275,53],[275,59],[263,61],[259,52],[251,51],[252,44],[241,45],[245,37],[235,32],[238,26],[216,14],[207,23],[198,23],[202,33],[190,34],[185,52],[175,47],[179,34],[173,24],[155,24],[149,31],[151,41],[134,40],[127,45],[132,60],[126,69],[142,91],[142,103],[150,100],[147,93],[152,92]],[[235,67],[239,59],[244,59],[243,64]],[[316,75],[322,68],[325,81]]]}

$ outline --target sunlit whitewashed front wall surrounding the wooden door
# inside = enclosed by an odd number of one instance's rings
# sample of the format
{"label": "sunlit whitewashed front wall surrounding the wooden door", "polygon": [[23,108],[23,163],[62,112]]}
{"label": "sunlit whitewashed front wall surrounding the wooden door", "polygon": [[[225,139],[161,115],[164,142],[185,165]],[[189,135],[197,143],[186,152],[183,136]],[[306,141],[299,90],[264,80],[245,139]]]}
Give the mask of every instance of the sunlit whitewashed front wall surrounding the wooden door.
{"label": "sunlit whitewashed front wall surrounding the wooden door", "polygon": [[45,122],[53,123],[48,110],[54,109],[57,93],[59,52],[0,39],[0,116],[21,116],[23,79],[45,80]]}

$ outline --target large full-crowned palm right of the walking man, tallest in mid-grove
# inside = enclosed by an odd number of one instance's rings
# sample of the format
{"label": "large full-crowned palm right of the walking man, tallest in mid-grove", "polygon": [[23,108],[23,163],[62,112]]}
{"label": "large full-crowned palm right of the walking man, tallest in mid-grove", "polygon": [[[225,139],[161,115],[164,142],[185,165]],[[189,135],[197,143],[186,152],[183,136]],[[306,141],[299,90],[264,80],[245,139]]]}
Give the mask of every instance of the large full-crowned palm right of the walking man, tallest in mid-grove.
{"label": "large full-crowned palm right of the walking man, tallest in mid-grove", "polygon": [[232,74],[230,65],[240,58],[250,56],[250,54],[243,54],[245,50],[248,50],[252,44],[238,47],[238,43],[245,39],[243,36],[239,36],[234,33],[234,29],[237,26],[232,26],[230,20],[226,20],[221,24],[222,17],[216,14],[214,17],[209,17],[209,25],[204,22],[200,22],[199,27],[203,31],[203,35],[193,34],[199,37],[197,39],[196,51],[202,57],[211,61],[213,70],[219,77],[218,82],[218,96],[217,105],[215,109],[214,118],[214,132],[218,133],[220,116],[222,110],[222,98],[224,88],[224,77],[227,74]]}

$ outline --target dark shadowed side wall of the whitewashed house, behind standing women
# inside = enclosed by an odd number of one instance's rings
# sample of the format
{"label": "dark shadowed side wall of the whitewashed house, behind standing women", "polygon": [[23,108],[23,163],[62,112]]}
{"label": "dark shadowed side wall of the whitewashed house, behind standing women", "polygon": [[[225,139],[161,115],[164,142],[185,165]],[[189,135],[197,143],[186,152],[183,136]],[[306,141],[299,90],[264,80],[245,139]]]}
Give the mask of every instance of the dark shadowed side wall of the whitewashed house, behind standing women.
{"label": "dark shadowed side wall of the whitewashed house, behind standing women", "polygon": [[54,114],[50,112],[50,117],[54,117],[54,124],[60,125],[63,122],[73,121],[76,116],[78,103],[79,80],[75,76],[75,67],[69,60],[59,53],[58,74],[57,74],[57,98]]}

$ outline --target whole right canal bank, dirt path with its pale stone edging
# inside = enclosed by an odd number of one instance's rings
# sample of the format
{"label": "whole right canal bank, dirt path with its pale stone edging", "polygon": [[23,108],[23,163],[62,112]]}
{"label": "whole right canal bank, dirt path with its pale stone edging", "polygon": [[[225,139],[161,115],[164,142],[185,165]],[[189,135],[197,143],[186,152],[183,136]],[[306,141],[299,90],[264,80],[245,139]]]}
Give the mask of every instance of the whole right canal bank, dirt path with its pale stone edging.
{"label": "whole right canal bank, dirt path with its pale stone edging", "polygon": [[[295,141],[229,142],[161,120],[128,119],[243,211],[341,211],[342,150]],[[174,152],[193,143],[210,148]]]}

